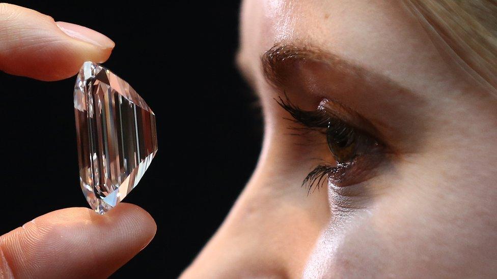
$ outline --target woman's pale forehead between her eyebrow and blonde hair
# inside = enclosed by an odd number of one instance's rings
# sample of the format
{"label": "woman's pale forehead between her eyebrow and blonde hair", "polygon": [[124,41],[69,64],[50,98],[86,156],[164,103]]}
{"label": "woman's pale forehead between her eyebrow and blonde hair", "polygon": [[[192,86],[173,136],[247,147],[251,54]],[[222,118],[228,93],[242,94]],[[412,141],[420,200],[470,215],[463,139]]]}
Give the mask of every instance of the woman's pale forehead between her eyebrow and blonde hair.
{"label": "woman's pale forehead between her eyebrow and blonde hair", "polygon": [[245,1],[239,52],[242,68],[259,72],[261,54],[281,42],[318,46],[413,91],[453,85],[456,79],[401,1]]}

